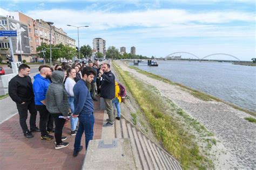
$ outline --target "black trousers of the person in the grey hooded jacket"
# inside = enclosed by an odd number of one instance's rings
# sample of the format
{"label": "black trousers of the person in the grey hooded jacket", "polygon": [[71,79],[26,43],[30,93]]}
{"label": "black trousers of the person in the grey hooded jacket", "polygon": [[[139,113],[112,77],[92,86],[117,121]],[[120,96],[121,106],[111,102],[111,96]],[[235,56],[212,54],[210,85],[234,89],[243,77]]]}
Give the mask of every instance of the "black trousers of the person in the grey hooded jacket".
{"label": "black trousers of the person in the grey hooded jacket", "polygon": [[59,118],[59,116],[63,116],[62,114],[51,114],[51,115],[54,118],[54,123],[55,123],[54,137],[56,140],[56,144],[59,145],[60,143],[62,143],[62,130],[66,122],[66,119]]}

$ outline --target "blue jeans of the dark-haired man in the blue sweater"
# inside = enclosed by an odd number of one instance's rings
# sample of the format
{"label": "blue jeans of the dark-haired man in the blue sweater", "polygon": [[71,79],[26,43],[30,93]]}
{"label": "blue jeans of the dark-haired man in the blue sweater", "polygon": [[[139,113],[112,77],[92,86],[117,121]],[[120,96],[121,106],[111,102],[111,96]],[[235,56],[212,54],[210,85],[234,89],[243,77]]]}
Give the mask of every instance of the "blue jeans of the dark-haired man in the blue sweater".
{"label": "blue jeans of the dark-haired man in the blue sweater", "polygon": [[79,126],[74,144],[75,151],[80,150],[81,138],[83,136],[83,133],[85,134],[85,148],[87,149],[89,141],[93,138],[93,125],[95,122],[93,112],[91,114],[80,114],[78,118]]}

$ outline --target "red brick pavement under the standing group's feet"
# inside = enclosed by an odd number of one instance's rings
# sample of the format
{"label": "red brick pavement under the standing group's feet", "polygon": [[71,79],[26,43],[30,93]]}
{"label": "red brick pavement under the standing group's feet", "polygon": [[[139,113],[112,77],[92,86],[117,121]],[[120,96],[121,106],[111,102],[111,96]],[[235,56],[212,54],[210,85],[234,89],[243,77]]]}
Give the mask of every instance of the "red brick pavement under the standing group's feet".
{"label": "red brick pavement under the standing group's feet", "polygon": [[[99,99],[98,99],[99,101]],[[99,102],[95,102],[95,126],[93,139],[101,139],[104,110],[99,110]],[[69,121],[70,123],[70,121]],[[27,119],[29,126],[29,116]],[[37,114],[39,127],[39,114]],[[51,133],[54,135],[54,133]],[[0,124],[0,169],[81,169],[85,149],[76,158],[72,157],[75,136],[70,136],[70,124],[63,128],[63,136],[69,146],[55,150],[55,139],[46,141],[40,139],[40,133],[33,133],[33,138],[23,136],[19,125],[19,115],[15,115]],[[81,144],[85,148],[83,134]]]}

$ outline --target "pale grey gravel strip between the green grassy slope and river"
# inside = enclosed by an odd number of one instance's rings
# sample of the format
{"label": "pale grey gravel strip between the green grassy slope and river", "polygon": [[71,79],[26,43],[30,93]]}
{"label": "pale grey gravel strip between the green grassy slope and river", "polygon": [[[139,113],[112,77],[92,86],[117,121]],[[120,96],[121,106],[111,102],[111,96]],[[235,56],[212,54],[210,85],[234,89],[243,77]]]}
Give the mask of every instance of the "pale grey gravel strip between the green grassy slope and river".
{"label": "pale grey gravel strip between the green grassy slope and river", "polygon": [[[251,151],[256,150],[255,145],[253,145],[255,143],[253,141],[256,125],[244,120],[245,117],[249,116],[246,112],[234,109],[221,100],[200,100],[189,93],[190,89],[184,89],[178,84],[171,84],[164,80],[153,79],[153,77],[139,73],[138,70],[129,68],[122,61],[114,62],[124,71],[130,72],[136,79],[156,87],[160,91],[160,95],[164,95],[181,108],[185,114],[189,115],[190,118],[196,119],[208,131],[215,134],[214,145],[210,149],[210,155],[215,155],[209,156],[217,159],[212,160],[215,168],[248,168],[256,163],[255,155]],[[163,77],[159,78],[164,79]],[[175,116],[179,117],[178,115]],[[249,126],[251,128],[248,129]],[[200,136],[196,136],[196,138],[200,138]],[[238,147],[235,143],[239,143],[239,141],[241,141],[241,144]],[[207,143],[203,141],[203,143],[199,142],[198,144],[205,145]],[[241,158],[244,158],[244,160],[241,160]]]}

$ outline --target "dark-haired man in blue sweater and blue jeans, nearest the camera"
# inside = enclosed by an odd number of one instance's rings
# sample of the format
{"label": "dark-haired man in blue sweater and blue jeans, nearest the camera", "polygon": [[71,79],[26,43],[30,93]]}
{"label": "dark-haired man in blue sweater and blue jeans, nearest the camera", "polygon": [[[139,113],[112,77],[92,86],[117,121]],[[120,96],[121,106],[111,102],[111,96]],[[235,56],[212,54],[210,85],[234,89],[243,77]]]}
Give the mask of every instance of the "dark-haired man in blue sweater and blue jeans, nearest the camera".
{"label": "dark-haired man in blue sweater and blue jeans, nearest the camera", "polygon": [[71,116],[78,117],[79,119],[73,157],[77,157],[78,153],[83,149],[83,146],[80,144],[83,133],[85,133],[85,149],[87,149],[89,141],[93,138],[93,125],[95,122],[95,117],[93,116],[94,107],[90,90],[86,87],[86,82],[91,83],[93,77],[96,75],[95,70],[85,67],[82,72],[82,79],[73,88],[75,111]]}

